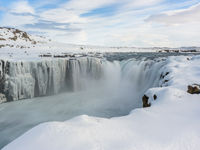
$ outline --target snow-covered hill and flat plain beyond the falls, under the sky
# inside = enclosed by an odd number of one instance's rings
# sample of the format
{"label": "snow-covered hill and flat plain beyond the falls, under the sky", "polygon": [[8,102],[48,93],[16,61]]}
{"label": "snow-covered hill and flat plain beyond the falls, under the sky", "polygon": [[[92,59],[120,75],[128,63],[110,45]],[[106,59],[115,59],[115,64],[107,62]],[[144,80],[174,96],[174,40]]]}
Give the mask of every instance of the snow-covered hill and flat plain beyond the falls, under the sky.
{"label": "snow-covered hill and flat plain beyond the falls, under the sky", "polygon": [[200,47],[105,47],[92,45],[66,44],[27,32],[0,27],[0,59],[30,60],[41,55],[48,57],[65,56],[66,54],[88,54],[104,52],[200,52]]}

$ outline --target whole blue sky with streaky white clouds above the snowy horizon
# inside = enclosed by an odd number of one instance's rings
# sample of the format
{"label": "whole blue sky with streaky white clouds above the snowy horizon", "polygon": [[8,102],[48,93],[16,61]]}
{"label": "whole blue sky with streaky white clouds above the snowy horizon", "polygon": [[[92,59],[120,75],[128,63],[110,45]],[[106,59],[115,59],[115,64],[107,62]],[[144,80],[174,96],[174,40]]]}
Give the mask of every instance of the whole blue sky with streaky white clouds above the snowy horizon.
{"label": "whole blue sky with streaky white clouds above the snowy horizon", "polygon": [[0,26],[72,44],[200,46],[200,0],[0,0]]}

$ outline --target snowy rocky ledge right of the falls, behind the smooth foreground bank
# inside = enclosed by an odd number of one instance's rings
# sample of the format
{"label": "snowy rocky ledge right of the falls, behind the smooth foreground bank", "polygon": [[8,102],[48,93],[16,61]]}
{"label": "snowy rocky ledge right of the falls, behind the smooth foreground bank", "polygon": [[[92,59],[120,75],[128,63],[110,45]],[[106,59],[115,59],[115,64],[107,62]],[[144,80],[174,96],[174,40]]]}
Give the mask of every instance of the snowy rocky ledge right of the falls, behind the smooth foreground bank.
{"label": "snowy rocky ledge right of the falls, behind the smooth foreground bank", "polygon": [[153,96],[156,95],[156,97],[159,97],[159,95],[162,95],[163,93],[160,91],[163,90],[169,90],[170,92],[174,90],[177,91],[177,93],[180,93],[180,91],[188,92],[188,86],[191,86],[192,89],[190,90],[192,91],[189,91],[188,93],[199,93],[200,56],[170,57],[167,60],[167,64],[159,72],[161,74],[159,87],[151,88],[145,93],[148,97],[148,100],[145,103],[146,105],[151,105],[151,103],[155,101]]}

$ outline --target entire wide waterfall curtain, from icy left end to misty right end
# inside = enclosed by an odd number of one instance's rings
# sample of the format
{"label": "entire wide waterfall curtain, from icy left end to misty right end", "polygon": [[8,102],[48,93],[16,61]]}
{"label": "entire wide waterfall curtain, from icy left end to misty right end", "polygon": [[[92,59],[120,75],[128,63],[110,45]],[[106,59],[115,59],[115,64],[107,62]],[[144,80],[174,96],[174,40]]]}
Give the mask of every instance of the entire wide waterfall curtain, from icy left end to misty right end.
{"label": "entire wide waterfall curtain, from icy left end to misty right end", "polygon": [[[60,92],[102,89],[105,93],[138,97],[158,83],[163,61],[107,61],[93,57],[41,61],[0,61],[0,93],[8,101]],[[137,96],[136,96],[137,95]]]}

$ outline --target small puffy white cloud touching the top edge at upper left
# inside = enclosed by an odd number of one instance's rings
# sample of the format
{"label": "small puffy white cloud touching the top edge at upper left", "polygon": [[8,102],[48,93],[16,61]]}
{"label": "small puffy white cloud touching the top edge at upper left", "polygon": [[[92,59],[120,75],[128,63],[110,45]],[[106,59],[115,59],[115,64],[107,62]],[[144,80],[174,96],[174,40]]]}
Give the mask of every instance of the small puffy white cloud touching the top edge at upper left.
{"label": "small puffy white cloud touching the top edge at upper left", "polygon": [[23,13],[34,14],[35,13],[34,8],[31,7],[29,5],[28,1],[26,1],[26,0],[17,1],[17,2],[12,3],[10,9],[11,9],[10,12],[18,13],[18,14],[23,14]]}

